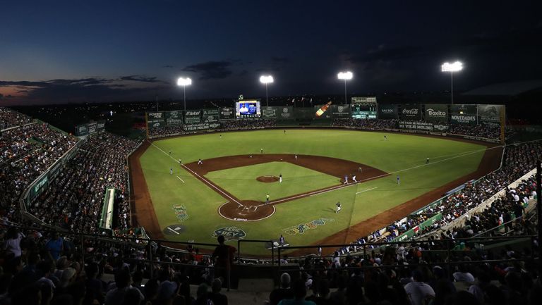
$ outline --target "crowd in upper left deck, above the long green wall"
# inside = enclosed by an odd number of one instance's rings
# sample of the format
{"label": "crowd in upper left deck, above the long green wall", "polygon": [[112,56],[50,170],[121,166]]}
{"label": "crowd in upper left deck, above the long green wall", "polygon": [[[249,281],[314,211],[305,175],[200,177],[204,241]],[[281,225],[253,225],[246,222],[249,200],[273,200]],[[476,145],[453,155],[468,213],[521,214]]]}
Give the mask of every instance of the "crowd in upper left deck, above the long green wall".
{"label": "crowd in upper left deck, above the long green wall", "polygon": [[78,139],[32,124],[0,134],[0,206],[12,216],[23,191],[65,154]]}

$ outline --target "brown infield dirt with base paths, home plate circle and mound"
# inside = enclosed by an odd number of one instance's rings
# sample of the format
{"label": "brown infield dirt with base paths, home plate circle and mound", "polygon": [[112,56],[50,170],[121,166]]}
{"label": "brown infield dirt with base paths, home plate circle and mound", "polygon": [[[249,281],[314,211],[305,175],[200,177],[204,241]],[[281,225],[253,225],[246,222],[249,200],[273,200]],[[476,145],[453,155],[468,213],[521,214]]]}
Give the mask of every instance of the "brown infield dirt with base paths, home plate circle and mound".
{"label": "brown infield dirt with base paths, home plate circle and mound", "polygon": [[[301,199],[303,197],[320,194],[323,192],[329,192],[334,189],[340,189],[342,187],[349,187],[353,183],[343,185],[339,183],[337,185],[330,185],[323,189],[314,189],[311,192],[304,192],[295,194],[293,196],[275,199],[268,203],[261,201],[244,201],[236,198],[233,194],[222,189],[219,185],[203,177],[205,174],[214,170],[224,170],[228,168],[239,168],[242,166],[251,166],[255,164],[269,163],[269,162],[289,162],[296,166],[303,166],[311,170],[316,170],[320,173],[332,175],[337,177],[337,181],[341,181],[344,175],[355,174],[359,182],[365,182],[377,178],[382,178],[387,173],[365,164],[356,163],[339,158],[330,158],[325,156],[310,156],[310,155],[293,155],[293,154],[255,154],[255,155],[239,155],[239,156],[226,156],[219,158],[211,158],[203,160],[203,164],[198,162],[187,163],[184,165],[188,169],[188,172],[192,173],[195,178],[198,178],[201,182],[205,183],[214,189],[220,196],[227,199],[228,202],[222,204],[219,207],[218,213],[220,216],[229,220],[237,221],[255,221],[262,220],[270,217],[275,213],[275,208],[272,207],[275,204],[282,204],[294,199]],[[361,172],[360,172],[361,168]],[[262,176],[257,178],[261,182],[275,182],[279,178],[275,176]]]}

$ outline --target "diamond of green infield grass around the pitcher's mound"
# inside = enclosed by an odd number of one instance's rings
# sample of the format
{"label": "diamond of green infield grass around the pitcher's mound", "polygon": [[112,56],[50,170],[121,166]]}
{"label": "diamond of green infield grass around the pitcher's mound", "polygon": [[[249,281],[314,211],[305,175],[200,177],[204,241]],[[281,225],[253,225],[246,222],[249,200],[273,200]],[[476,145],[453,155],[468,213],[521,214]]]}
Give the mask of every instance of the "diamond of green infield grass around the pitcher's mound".
{"label": "diamond of green infield grass around the pitcher's mound", "polygon": [[[282,183],[256,180],[263,175],[278,177],[280,174],[283,178]],[[241,200],[256,201],[265,201],[265,194],[270,194],[270,201],[273,201],[340,184],[340,179],[337,177],[288,162],[270,162],[215,170],[207,173],[205,177]]]}

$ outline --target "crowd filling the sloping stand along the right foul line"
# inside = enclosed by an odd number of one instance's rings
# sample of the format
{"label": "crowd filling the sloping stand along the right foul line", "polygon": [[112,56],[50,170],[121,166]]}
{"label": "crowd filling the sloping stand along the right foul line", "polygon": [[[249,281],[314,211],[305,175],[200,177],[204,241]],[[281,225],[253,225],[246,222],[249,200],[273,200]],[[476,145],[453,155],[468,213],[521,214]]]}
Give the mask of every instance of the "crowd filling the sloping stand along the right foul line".
{"label": "crowd filling the sloping stand along the right foul line", "polygon": [[[357,252],[362,249],[363,244],[367,242],[391,242],[407,230],[415,228],[423,223],[428,217],[437,213],[442,214],[442,219],[433,223],[433,225],[421,230],[418,234],[425,234],[433,230],[438,230],[443,225],[451,223],[459,217],[464,216],[471,208],[490,199],[501,189],[507,188],[512,182],[518,180],[530,170],[536,167],[536,160],[542,157],[542,142],[529,142],[519,145],[511,145],[505,148],[505,156],[502,168],[490,173],[478,180],[476,183],[469,183],[460,192],[451,194],[443,199],[442,204],[428,206],[417,217],[407,218],[406,220],[397,220],[397,222],[388,225],[386,228],[377,230],[367,236],[360,237],[349,247],[339,249],[340,254]],[[471,216],[469,225],[470,230],[478,234],[483,230],[499,225],[503,220],[512,220],[519,217],[519,211],[526,207],[526,202],[534,198],[534,182],[532,179],[522,182],[515,189],[507,189],[507,195],[500,198],[488,208],[483,217]],[[517,195],[517,196],[516,196]],[[478,217],[478,218],[476,218]],[[480,220],[479,222],[477,221]],[[451,235],[450,235],[451,234]],[[455,232],[457,234],[457,232]],[[454,237],[454,232],[445,233],[442,238]],[[373,246],[371,246],[373,247]]]}

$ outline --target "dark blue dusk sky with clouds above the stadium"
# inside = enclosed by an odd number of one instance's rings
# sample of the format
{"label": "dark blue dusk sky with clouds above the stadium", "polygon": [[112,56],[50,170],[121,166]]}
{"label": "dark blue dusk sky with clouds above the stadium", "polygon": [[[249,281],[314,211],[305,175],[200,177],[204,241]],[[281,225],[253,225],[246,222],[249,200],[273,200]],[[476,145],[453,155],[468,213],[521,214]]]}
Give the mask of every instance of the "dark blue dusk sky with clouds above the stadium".
{"label": "dark blue dusk sky with clouds above the stadium", "polygon": [[0,105],[442,91],[542,78],[542,1],[1,1]]}

